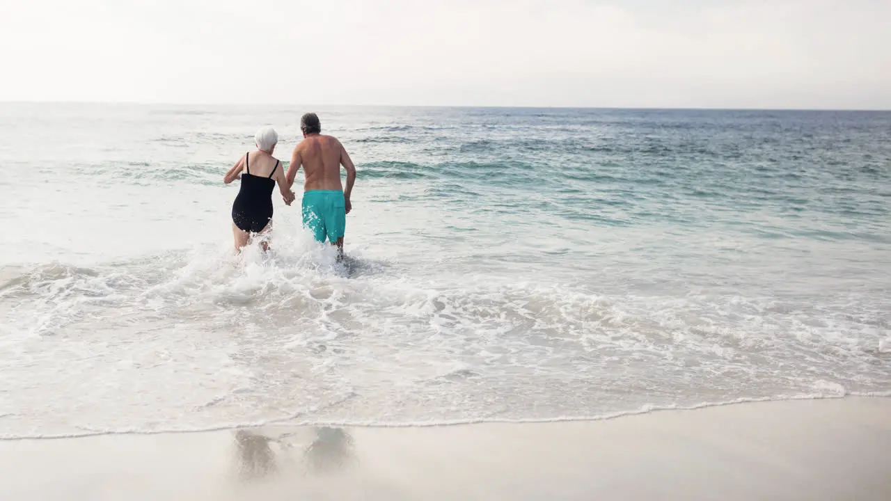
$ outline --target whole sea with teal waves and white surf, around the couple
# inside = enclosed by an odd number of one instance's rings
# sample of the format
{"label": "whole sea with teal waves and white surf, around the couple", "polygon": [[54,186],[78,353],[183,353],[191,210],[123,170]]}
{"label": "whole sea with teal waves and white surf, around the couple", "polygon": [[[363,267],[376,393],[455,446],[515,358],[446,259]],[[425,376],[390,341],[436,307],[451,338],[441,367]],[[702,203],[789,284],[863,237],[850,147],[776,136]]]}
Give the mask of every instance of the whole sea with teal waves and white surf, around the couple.
{"label": "whole sea with teal waves and white surf, around the couple", "polygon": [[[347,259],[236,254],[306,111]],[[891,395],[891,112],[4,103],[0,173],[2,439]]]}

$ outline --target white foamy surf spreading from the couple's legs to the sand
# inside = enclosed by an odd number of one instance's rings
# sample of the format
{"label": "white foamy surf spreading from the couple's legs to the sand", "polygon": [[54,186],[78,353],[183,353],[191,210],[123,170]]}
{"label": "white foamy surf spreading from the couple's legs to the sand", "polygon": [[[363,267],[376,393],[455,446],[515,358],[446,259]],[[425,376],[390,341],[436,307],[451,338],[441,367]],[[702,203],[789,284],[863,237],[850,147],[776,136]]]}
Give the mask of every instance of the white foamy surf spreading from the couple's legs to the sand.
{"label": "white foamy surf spreading from the couple's legs to the sand", "polygon": [[[587,420],[887,394],[876,390],[887,372],[856,336],[789,331],[789,316],[764,316],[775,300],[418,281],[380,272],[391,265],[361,249],[339,264],[301,232],[274,242],[268,256],[255,246],[236,258],[220,242],[22,271],[0,292],[29,305],[8,312],[28,334],[6,382],[21,408],[36,410],[0,416],[5,438]],[[725,311],[733,324],[721,323]],[[838,367],[854,377],[838,379]],[[691,384],[713,403],[679,398]],[[734,397],[753,391],[761,396]],[[582,407],[592,413],[567,414]],[[30,431],[47,429],[59,432]]]}

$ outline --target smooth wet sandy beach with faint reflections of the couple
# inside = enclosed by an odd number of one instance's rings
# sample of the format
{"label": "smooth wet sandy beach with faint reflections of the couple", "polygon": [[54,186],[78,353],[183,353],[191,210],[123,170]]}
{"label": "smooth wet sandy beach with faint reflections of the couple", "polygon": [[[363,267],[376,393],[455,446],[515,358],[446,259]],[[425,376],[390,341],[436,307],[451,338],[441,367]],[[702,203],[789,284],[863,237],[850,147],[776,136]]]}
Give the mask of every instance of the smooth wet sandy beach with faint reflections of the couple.
{"label": "smooth wet sandy beach with faint reflections of the couple", "polygon": [[0,499],[888,499],[891,398],[0,443]]}

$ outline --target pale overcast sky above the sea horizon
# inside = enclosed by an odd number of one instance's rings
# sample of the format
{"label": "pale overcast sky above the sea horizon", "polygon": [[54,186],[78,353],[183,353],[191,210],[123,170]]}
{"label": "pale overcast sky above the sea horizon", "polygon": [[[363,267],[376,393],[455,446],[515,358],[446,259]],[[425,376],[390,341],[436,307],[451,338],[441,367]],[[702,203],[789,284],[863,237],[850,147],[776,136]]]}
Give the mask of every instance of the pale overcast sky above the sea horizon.
{"label": "pale overcast sky above the sea horizon", "polygon": [[891,109],[891,0],[0,0],[0,101]]}

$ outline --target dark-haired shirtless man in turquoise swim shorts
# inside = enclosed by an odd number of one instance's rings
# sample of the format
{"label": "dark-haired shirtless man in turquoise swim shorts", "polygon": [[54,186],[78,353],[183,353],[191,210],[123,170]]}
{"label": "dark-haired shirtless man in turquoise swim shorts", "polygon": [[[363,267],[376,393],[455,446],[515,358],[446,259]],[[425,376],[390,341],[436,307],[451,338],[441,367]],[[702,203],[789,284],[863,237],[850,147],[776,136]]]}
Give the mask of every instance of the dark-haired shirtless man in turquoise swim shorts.
{"label": "dark-haired shirtless man in turquoise swim shorts", "polygon": [[[322,135],[322,124],[315,113],[300,118],[303,141],[290,155],[288,189],[294,185],[297,171],[303,166],[303,225],[315,240],[328,239],[338,247],[338,258],[343,258],[343,234],[347,228],[347,214],[352,209],[349,195],[356,183],[356,166],[347,150],[333,136]],[[340,166],[347,169],[347,189],[340,184]],[[287,199],[285,200],[287,202]]]}

